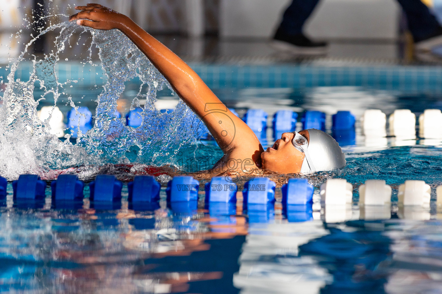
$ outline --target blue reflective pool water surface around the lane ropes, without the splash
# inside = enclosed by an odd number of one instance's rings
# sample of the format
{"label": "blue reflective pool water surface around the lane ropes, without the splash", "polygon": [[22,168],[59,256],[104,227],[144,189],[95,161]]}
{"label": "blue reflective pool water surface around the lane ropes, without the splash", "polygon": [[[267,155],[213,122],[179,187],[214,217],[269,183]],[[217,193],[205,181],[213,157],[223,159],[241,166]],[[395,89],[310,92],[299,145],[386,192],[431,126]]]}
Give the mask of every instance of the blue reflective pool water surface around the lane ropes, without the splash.
{"label": "blue reflective pool water surface around the lane ropes, without the splash", "polygon": [[[419,114],[437,99],[362,87],[214,89],[240,115],[257,103],[270,108],[409,108]],[[316,95],[320,93],[321,98]],[[325,97],[324,97],[325,96]],[[347,96],[347,99],[339,97]],[[237,97],[232,99],[231,97]],[[333,98],[335,97],[335,98]],[[170,98],[163,98],[170,99]],[[367,103],[369,101],[369,103]],[[86,101],[85,101],[86,102]],[[277,105],[277,106],[274,106]],[[268,107],[267,107],[268,106]],[[315,106],[315,107],[313,107]],[[270,111],[269,111],[270,112]],[[328,113],[330,113],[328,112]],[[273,143],[267,132],[268,144]],[[441,280],[440,214],[434,187],[441,184],[441,142],[362,136],[343,145],[347,166],[320,173],[354,185],[344,212],[321,207],[244,210],[236,205],[168,205],[164,187],[156,205],[13,201],[1,207],[0,289],[8,293],[438,293]],[[198,145],[200,146],[200,145]],[[221,156],[210,141],[199,156]],[[85,168],[86,170],[88,168]],[[388,207],[359,207],[358,186],[385,179]],[[398,207],[397,186],[423,179],[433,187],[430,208]],[[315,179],[312,178],[312,182]],[[280,199],[281,190],[276,197]],[[240,198],[240,197],[239,197]]]}

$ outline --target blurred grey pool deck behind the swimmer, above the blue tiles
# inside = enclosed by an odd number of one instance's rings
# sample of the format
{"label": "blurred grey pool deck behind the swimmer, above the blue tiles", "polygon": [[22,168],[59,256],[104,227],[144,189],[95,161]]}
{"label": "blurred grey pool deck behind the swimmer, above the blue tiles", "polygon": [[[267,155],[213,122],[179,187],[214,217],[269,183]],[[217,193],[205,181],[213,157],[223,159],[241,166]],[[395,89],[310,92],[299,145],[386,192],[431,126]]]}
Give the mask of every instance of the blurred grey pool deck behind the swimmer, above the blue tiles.
{"label": "blurred grey pool deck behind the swimmer, above the blue tiles", "polygon": [[[45,52],[50,52],[58,32],[46,34]],[[1,34],[0,34],[1,36]],[[272,46],[268,39],[221,39],[217,36],[189,38],[181,35],[154,35],[168,48],[190,63],[217,63],[235,65],[271,65],[287,63],[334,63],[336,65],[383,64],[383,65],[440,65],[442,56],[415,54],[413,44],[407,37],[398,40],[329,40],[328,52],[325,55],[299,55],[295,52],[282,52]],[[30,37],[23,32],[22,44],[27,44]],[[74,35],[71,40],[72,49],[63,54],[61,60],[82,60],[85,48],[89,48],[90,35],[83,33]],[[75,44],[77,43],[77,44]],[[85,45],[83,45],[85,44]],[[24,46],[24,45],[21,45]],[[86,46],[86,47],[85,47]],[[23,47],[24,48],[24,47]],[[17,48],[15,52],[23,51]],[[37,54],[38,55],[38,54]],[[88,55],[88,54],[87,54]],[[0,56],[1,57],[1,56]],[[14,57],[14,56],[12,56]],[[0,58],[0,63],[7,59]]]}

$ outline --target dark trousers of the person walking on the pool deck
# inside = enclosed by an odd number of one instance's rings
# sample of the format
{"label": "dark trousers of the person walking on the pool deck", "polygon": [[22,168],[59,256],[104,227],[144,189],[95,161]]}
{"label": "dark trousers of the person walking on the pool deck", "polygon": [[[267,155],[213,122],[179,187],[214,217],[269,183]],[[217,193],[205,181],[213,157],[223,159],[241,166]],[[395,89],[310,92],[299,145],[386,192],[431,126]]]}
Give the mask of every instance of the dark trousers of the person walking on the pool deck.
{"label": "dark trousers of the person walking on the pool deck", "polygon": [[[293,0],[282,17],[280,30],[289,35],[302,33],[302,26],[309,18],[319,0]],[[408,29],[415,41],[433,34],[439,23],[421,0],[397,0],[405,11]]]}

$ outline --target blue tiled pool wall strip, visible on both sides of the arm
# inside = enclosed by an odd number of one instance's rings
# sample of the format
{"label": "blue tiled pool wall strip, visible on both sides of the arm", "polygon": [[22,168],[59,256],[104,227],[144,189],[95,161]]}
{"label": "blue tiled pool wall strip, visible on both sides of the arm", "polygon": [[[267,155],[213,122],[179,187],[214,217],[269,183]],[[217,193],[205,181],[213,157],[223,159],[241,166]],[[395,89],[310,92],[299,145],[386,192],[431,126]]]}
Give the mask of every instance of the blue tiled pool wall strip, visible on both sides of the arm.
{"label": "blue tiled pool wall strip, visible on both sides of the arm", "polygon": [[[288,65],[218,65],[191,63],[207,86],[220,88],[309,88],[322,86],[362,86],[403,91],[442,89],[442,67],[436,66],[317,66]],[[57,63],[60,82],[80,78],[80,85],[102,85],[101,66],[81,63]],[[31,63],[21,63],[15,78],[28,80]],[[0,68],[4,79],[9,71]]]}

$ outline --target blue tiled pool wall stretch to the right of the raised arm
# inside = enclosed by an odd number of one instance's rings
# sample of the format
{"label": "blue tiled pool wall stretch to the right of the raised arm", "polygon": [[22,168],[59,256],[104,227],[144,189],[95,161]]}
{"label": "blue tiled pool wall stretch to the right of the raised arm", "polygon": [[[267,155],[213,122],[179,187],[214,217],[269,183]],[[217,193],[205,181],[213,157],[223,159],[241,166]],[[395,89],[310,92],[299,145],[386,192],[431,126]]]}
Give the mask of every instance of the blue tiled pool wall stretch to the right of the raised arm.
{"label": "blue tiled pool wall stretch to the right of the raised arm", "polygon": [[363,86],[376,89],[440,90],[438,67],[215,66],[192,68],[210,88],[309,88]]}

